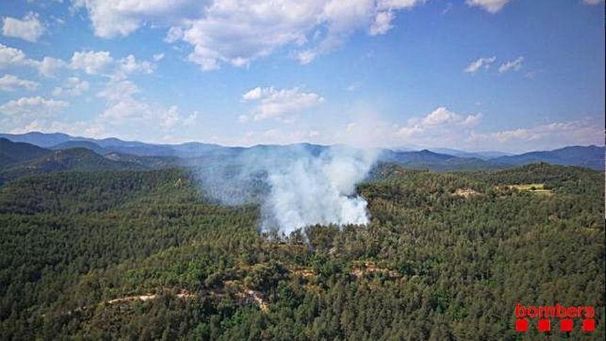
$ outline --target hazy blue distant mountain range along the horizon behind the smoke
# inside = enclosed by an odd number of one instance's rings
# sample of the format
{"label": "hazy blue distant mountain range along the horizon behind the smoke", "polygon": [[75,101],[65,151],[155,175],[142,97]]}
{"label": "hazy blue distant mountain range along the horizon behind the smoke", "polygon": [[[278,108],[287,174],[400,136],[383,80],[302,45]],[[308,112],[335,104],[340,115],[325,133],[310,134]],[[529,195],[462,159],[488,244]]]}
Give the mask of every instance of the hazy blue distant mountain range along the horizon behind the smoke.
{"label": "hazy blue distant mountain range along the horizon behind the smoke", "polygon": [[[325,145],[255,145],[225,147],[209,143],[178,145],[122,141],[118,138],[83,138],[67,134],[0,134],[0,183],[19,176],[67,169],[161,168],[212,162],[248,153],[280,153],[296,156],[304,150],[319,155]],[[502,152],[464,152],[456,149],[420,151],[381,149],[379,161],[415,169],[476,170],[502,169],[529,163],[573,165],[604,169],[604,147],[572,146],[550,151],[512,155]],[[200,160],[198,160],[200,159]]]}

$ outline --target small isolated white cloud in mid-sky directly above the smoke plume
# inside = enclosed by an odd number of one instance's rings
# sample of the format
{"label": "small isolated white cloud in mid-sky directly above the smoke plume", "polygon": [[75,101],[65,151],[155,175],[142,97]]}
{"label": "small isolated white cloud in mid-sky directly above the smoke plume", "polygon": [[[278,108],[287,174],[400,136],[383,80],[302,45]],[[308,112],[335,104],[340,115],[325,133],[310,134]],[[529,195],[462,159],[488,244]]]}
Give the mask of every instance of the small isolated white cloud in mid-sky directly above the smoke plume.
{"label": "small isolated white cloud in mid-sky directly above the smoke plume", "polygon": [[300,111],[324,102],[324,98],[313,92],[302,92],[298,87],[275,90],[273,87],[255,87],[242,95],[244,101],[258,102],[253,111],[254,121],[277,118],[285,114],[298,114]]}

